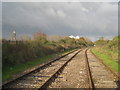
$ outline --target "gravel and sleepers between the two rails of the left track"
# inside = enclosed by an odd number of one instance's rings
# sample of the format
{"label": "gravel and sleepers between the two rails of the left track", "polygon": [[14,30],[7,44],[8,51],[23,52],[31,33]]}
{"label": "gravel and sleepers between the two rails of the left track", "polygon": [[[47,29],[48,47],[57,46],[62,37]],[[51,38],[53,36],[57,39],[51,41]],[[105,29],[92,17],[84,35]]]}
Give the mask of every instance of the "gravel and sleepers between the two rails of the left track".
{"label": "gravel and sleepers between the two rails of the left track", "polygon": [[49,77],[79,50],[53,62],[50,66],[30,73],[3,88],[39,88]]}

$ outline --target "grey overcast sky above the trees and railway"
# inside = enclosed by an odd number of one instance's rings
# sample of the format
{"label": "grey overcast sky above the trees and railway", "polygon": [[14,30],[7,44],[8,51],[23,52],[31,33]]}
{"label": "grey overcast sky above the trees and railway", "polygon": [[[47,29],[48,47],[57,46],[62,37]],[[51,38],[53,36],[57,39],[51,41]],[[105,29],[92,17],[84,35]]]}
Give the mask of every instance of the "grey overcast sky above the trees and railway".
{"label": "grey overcast sky above the trees and railway", "polygon": [[118,3],[3,2],[3,37],[8,38],[13,30],[17,35],[44,32],[91,40],[101,36],[111,39],[118,34]]}

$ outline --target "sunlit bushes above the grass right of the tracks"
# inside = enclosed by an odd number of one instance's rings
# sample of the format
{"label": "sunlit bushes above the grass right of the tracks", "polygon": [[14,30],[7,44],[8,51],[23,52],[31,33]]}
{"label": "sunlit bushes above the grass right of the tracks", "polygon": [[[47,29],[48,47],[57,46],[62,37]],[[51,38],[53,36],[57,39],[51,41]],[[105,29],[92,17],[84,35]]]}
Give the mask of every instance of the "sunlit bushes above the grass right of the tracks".
{"label": "sunlit bushes above the grass right of the tracks", "polygon": [[112,40],[97,40],[95,42],[97,45],[95,49],[110,56],[113,60],[118,61],[118,54],[120,54],[118,47],[118,44],[120,44],[119,38],[120,36],[116,36]]}

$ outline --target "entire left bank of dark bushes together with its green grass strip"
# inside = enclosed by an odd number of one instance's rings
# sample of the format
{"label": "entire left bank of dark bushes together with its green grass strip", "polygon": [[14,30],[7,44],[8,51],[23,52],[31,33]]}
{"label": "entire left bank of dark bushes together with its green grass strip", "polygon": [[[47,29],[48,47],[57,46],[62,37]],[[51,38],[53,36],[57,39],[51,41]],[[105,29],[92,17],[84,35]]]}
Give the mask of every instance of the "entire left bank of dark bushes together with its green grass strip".
{"label": "entire left bank of dark bushes together with its green grass strip", "polygon": [[3,39],[2,79],[3,81],[11,79],[14,75],[49,61],[56,55],[86,46],[93,46],[93,42],[83,37],[80,39],[64,37],[57,41],[49,41],[45,34],[37,34],[34,40],[11,42]]}

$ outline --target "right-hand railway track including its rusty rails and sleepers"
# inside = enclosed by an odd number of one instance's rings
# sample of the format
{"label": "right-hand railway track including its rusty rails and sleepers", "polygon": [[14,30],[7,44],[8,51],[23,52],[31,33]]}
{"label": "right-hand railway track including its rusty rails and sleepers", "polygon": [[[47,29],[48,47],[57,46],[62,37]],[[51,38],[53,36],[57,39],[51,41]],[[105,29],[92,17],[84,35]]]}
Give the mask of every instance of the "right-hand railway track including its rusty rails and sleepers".
{"label": "right-hand railway track including its rusty rails and sleepers", "polygon": [[119,88],[119,76],[104,64],[91,50],[86,50],[90,88]]}

